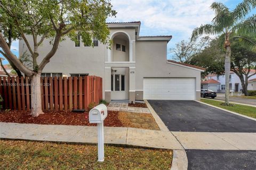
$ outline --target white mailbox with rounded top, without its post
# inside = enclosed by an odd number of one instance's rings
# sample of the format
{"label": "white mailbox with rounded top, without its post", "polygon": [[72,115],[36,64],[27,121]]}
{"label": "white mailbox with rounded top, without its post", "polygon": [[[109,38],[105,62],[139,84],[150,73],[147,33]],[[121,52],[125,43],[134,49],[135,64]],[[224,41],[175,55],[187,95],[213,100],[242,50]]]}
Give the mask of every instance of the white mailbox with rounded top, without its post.
{"label": "white mailbox with rounded top, without its post", "polygon": [[95,106],[91,111],[89,112],[89,122],[90,123],[102,123],[103,120],[108,115],[107,106],[104,104],[100,104],[98,106]]}

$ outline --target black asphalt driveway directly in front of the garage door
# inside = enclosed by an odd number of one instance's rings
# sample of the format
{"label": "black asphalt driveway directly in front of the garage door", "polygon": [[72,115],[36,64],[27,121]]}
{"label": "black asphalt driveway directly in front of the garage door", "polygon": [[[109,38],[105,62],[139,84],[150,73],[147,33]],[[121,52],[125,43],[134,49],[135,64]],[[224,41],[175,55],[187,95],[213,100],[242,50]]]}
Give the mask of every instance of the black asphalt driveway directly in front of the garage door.
{"label": "black asphalt driveway directly in front of the garage door", "polygon": [[170,131],[256,132],[256,122],[191,100],[148,100]]}

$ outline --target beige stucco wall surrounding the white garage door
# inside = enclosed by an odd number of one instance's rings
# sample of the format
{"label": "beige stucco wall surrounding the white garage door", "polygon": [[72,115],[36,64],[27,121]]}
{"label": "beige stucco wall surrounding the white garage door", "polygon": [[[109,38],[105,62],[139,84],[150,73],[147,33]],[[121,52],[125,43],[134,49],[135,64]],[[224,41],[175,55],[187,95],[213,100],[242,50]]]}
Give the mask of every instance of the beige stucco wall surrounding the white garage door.
{"label": "beige stucco wall surrounding the white garage door", "polygon": [[[166,41],[136,41],[136,91],[143,90],[143,78],[196,78],[196,91],[201,90],[201,72],[166,63]],[[141,92],[137,92],[141,95]],[[137,95],[136,96],[139,96]],[[198,95],[197,95],[198,96]],[[141,96],[139,97],[141,99]],[[199,97],[196,97],[199,99]]]}

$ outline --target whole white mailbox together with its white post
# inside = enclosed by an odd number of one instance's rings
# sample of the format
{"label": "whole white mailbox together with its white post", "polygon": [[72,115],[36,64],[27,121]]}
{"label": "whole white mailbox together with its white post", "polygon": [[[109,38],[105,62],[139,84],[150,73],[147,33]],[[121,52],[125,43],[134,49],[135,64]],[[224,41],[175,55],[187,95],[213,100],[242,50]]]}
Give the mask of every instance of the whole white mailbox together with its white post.
{"label": "whole white mailbox together with its white post", "polygon": [[89,122],[98,125],[98,161],[104,161],[104,128],[103,121],[108,115],[107,106],[100,104],[89,112]]}

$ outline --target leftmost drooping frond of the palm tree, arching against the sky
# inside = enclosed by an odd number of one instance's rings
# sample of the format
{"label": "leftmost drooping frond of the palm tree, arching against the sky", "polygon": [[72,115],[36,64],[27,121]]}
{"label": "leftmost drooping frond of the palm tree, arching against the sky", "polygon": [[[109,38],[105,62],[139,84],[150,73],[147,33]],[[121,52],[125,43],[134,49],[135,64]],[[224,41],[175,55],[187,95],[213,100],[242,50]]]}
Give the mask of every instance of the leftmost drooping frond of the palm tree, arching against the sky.
{"label": "leftmost drooping frond of the palm tree, arching against the sky", "polygon": [[191,40],[195,40],[197,37],[202,36],[203,34],[214,35],[219,32],[220,30],[218,29],[218,27],[212,24],[201,25],[200,27],[197,27],[193,30]]}

